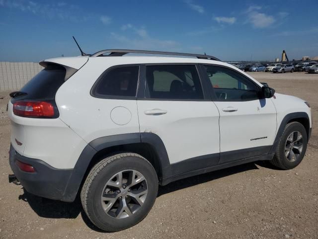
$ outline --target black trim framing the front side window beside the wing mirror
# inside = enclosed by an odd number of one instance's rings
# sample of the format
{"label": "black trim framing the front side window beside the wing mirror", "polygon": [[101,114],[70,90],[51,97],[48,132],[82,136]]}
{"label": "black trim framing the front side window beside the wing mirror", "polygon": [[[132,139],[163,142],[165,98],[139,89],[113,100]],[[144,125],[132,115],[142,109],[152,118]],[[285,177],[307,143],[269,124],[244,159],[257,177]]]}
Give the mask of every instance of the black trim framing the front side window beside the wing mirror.
{"label": "black trim framing the front side window beside the wing mirror", "polygon": [[[210,91],[210,94],[211,94],[211,100],[214,101],[214,102],[245,102],[245,101],[256,101],[256,100],[260,100],[261,97],[260,97],[260,93],[262,91],[261,87],[256,84],[256,82],[254,82],[253,80],[249,79],[247,76],[245,76],[244,74],[242,74],[241,72],[231,68],[231,67],[228,67],[228,66],[223,66],[223,65],[218,65],[218,64],[209,64],[209,63],[200,63],[201,65],[201,68],[202,68],[202,78],[205,79],[205,81],[207,82],[207,87]],[[251,82],[252,84],[254,84],[256,86],[256,92],[257,92],[257,97],[258,99],[254,99],[254,100],[249,100],[249,99],[246,99],[246,100],[231,100],[231,101],[228,101],[228,100],[222,100],[222,99],[218,99],[216,94],[215,94],[215,91],[214,91],[214,87],[212,85],[212,82],[210,81],[208,75],[206,74],[206,71],[205,71],[205,66],[217,66],[217,67],[223,67],[223,68],[226,68],[226,69],[229,69],[229,70],[232,70],[236,73],[238,73],[240,76],[242,76],[244,79],[246,79],[247,81]]]}

